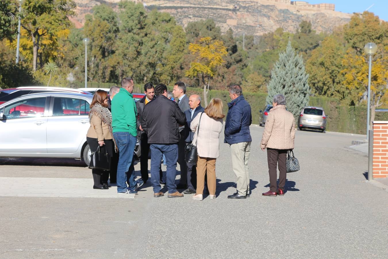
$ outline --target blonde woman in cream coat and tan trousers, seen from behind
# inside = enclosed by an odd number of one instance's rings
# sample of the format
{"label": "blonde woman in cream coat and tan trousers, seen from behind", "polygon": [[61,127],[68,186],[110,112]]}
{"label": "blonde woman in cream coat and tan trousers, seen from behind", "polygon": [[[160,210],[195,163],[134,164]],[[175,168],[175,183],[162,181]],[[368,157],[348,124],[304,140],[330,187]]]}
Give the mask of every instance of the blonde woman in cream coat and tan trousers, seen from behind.
{"label": "blonde woman in cream coat and tan trousers, seen from behind", "polygon": [[192,120],[190,129],[197,143],[197,190],[193,200],[203,200],[205,174],[207,174],[210,199],[216,197],[216,158],[220,156],[220,133],[222,131],[223,104],[221,99],[211,99],[203,113]]}

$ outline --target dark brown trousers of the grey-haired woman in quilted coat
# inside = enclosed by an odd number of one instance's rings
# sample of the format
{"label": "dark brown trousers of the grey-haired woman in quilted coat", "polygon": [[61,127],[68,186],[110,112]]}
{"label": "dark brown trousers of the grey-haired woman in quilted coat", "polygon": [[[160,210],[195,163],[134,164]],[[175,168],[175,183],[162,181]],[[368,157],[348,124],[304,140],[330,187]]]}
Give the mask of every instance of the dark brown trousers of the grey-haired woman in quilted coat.
{"label": "dark brown trousers of the grey-haired woman in quilted coat", "polygon": [[[270,191],[277,193],[277,188],[284,189],[286,184],[286,157],[289,149],[272,149],[267,148],[268,173]],[[279,185],[277,185],[277,170],[276,164],[279,167]]]}

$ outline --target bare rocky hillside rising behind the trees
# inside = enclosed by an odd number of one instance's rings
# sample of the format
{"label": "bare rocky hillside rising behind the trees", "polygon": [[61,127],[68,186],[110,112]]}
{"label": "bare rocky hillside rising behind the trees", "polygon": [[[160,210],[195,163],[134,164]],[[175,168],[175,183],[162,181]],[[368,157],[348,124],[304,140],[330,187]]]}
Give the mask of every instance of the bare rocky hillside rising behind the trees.
{"label": "bare rocky hillside rising behind the trees", "polygon": [[[77,27],[84,23],[85,14],[95,5],[105,3],[117,8],[120,0],[74,0],[77,16],[72,18]],[[239,35],[262,35],[281,27],[294,32],[298,24],[307,20],[317,32],[333,31],[336,26],[347,23],[351,14],[315,7],[295,6],[271,0],[137,0],[146,9],[158,9],[173,15],[177,22],[186,26],[191,21],[212,18],[222,31],[232,28]]]}

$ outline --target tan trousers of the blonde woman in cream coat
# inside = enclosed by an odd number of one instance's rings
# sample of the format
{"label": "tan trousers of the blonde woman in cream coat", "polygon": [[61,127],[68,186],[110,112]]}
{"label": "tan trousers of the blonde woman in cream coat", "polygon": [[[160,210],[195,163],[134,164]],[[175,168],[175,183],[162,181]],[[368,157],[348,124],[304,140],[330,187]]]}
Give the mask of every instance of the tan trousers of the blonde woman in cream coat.
{"label": "tan trousers of the blonde woman in cream coat", "polygon": [[200,157],[197,160],[197,191],[196,194],[203,194],[207,174],[209,194],[216,194],[216,158]]}

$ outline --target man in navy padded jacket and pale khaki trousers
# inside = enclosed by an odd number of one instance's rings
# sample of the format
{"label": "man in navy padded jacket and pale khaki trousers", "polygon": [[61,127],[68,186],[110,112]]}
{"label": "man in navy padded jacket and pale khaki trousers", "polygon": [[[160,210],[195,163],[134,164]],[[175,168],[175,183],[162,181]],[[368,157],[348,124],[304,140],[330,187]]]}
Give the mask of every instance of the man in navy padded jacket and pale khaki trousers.
{"label": "man in navy padded jacket and pale khaki trousers", "polygon": [[229,195],[228,198],[245,199],[249,197],[248,159],[252,141],[249,131],[249,125],[252,123],[251,106],[244,99],[239,85],[229,87],[229,96],[232,101],[228,103],[224,143],[230,145],[232,167],[237,177],[237,192]]}

